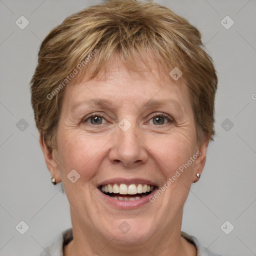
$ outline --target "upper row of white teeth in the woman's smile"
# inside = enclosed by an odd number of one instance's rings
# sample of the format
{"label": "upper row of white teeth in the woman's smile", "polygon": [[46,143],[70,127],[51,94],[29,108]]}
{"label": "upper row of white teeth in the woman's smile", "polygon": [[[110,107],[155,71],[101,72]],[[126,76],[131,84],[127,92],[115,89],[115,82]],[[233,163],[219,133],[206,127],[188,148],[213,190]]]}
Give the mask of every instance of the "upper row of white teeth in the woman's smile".
{"label": "upper row of white teeth in the woman's smile", "polygon": [[119,193],[119,194],[141,194],[149,191],[153,191],[154,186],[152,185],[142,185],[142,184],[107,184],[102,185],[100,187],[102,192],[108,192],[108,193]]}

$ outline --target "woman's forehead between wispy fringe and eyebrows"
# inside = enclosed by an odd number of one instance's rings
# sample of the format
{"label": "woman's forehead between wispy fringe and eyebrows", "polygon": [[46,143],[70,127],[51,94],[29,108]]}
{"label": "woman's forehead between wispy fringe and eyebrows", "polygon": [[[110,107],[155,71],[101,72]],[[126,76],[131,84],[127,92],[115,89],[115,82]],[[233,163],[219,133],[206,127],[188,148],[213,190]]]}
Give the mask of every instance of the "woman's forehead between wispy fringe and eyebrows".
{"label": "woman's forehead between wispy fringe and eyebrows", "polygon": [[[147,102],[148,105],[157,106],[159,101],[173,103],[174,106],[184,107],[188,101],[187,88],[184,82],[176,83],[164,71],[164,68],[148,57],[150,70],[141,63],[143,71],[129,70],[118,57],[113,57],[107,66],[106,72],[99,72],[93,79],[88,75],[79,82],[66,87],[64,101],[71,104],[72,110],[80,103],[90,100],[90,103],[112,103],[118,105],[119,101],[136,104]],[[106,102],[103,100],[105,99]],[[148,102],[149,101],[149,102]]]}

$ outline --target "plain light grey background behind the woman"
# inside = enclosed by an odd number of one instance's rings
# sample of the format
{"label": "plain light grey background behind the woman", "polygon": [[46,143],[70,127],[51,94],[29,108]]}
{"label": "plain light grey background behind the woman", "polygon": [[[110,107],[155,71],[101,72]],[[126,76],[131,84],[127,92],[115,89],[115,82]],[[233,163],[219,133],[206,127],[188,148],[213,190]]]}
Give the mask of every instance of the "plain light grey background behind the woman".
{"label": "plain light grey background behind the woman", "polygon": [[[71,225],[67,199],[59,185],[50,183],[40,151],[28,83],[39,44],[50,29],[67,15],[97,2],[0,0],[1,256],[39,255],[55,235]],[[157,2],[200,29],[219,78],[217,135],[208,147],[199,182],[192,184],[182,230],[212,251],[256,255],[256,1]],[[21,15],[29,21],[24,29],[15,24]],[[234,21],[229,29],[220,23],[226,15]],[[20,126],[21,118],[27,127]],[[21,220],[29,226],[23,235],[15,228]],[[226,220],[234,226],[229,234],[220,228]],[[225,227],[228,230],[230,224]]]}

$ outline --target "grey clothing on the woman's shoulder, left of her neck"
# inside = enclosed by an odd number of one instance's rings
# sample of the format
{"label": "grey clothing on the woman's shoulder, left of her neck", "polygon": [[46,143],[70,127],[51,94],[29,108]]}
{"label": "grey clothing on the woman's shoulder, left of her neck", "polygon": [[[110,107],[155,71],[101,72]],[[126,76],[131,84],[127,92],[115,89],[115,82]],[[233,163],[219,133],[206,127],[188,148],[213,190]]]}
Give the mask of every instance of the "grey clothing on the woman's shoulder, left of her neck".
{"label": "grey clothing on the woman's shoulder, left of her neck", "polygon": [[73,239],[72,228],[68,228],[57,235],[53,242],[43,248],[40,256],[63,256],[63,245]]}

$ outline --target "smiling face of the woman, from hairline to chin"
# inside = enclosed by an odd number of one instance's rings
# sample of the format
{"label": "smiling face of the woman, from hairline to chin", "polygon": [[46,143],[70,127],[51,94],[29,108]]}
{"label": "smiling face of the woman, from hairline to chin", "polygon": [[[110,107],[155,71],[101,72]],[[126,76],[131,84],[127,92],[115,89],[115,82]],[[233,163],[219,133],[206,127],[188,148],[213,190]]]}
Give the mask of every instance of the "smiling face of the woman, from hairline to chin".
{"label": "smiling face of the woman, from hairline to chin", "polygon": [[106,76],[65,88],[48,165],[73,228],[136,244],[180,228],[206,146],[197,146],[184,84],[156,66],[143,77],[118,57],[109,66]]}

